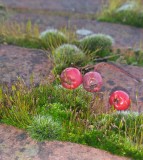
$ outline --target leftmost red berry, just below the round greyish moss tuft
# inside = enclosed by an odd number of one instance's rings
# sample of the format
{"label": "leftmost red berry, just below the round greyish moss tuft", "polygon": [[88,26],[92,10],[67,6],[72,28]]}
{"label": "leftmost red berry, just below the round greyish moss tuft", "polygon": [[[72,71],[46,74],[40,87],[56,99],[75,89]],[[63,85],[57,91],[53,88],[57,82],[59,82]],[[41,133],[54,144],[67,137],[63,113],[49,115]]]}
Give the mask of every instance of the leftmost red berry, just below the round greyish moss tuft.
{"label": "leftmost red berry, just below the round greyish moss tuft", "polygon": [[73,67],[63,70],[60,78],[62,86],[67,89],[75,89],[82,83],[82,74]]}

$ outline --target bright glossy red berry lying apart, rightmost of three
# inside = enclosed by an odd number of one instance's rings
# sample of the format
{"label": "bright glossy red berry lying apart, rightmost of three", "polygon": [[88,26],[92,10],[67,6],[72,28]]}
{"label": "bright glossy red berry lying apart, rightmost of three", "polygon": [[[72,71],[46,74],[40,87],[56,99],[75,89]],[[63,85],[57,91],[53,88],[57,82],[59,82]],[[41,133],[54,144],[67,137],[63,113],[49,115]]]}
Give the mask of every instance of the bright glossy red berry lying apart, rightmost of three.
{"label": "bright glossy red berry lying apart, rightmost of three", "polygon": [[109,103],[117,110],[126,110],[129,108],[131,100],[129,95],[121,90],[113,92],[109,97]]}

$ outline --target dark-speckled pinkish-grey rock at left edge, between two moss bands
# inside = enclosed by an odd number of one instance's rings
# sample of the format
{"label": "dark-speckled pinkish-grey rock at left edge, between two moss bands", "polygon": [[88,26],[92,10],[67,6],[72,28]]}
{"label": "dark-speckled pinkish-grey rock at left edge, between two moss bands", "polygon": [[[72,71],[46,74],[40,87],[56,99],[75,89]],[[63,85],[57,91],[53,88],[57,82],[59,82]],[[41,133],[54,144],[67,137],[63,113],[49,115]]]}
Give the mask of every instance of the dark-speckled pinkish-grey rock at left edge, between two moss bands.
{"label": "dark-speckled pinkish-grey rock at left edge, between two moss bands", "polygon": [[26,84],[32,77],[34,83],[39,83],[50,75],[51,67],[44,51],[0,45],[0,83],[11,83],[18,77]]}

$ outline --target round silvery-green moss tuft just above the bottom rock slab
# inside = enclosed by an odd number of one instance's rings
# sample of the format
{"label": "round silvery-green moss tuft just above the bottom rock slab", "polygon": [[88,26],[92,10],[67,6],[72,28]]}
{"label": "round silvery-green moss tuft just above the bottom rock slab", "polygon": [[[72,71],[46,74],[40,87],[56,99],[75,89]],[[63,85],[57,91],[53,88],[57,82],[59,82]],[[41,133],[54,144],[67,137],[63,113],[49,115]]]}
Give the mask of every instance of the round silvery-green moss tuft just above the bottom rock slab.
{"label": "round silvery-green moss tuft just above the bottom rock slab", "polygon": [[60,137],[61,128],[59,122],[51,116],[37,115],[33,117],[32,123],[27,127],[30,136],[38,141],[55,140]]}

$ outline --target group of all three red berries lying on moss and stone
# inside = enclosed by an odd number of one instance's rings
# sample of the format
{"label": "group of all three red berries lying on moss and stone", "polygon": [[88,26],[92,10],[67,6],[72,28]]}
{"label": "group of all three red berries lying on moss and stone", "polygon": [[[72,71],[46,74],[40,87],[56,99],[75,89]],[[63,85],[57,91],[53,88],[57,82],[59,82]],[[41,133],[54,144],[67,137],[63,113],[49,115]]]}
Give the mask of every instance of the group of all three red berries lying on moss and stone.
{"label": "group of all three red berries lying on moss and stone", "polygon": [[[100,73],[90,71],[82,76],[77,68],[69,67],[61,73],[61,84],[67,89],[76,89],[83,84],[83,88],[88,92],[100,91],[103,80]],[[109,97],[109,104],[117,110],[126,110],[131,103],[129,95],[121,90],[113,92]]]}

